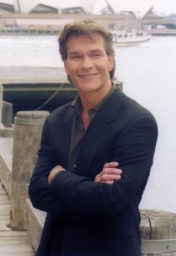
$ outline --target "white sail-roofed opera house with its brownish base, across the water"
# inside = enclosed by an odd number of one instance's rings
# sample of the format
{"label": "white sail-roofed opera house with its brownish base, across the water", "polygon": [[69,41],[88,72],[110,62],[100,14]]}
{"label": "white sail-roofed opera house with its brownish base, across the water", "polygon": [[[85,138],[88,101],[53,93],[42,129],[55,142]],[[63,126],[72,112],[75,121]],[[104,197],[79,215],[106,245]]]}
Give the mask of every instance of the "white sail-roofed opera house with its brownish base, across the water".
{"label": "white sail-roofed opera house with its brownish base, across the water", "polygon": [[[63,24],[93,16],[107,28],[140,29],[154,0],[0,0],[1,31],[58,33]],[[101,15],[100,15],[101,14]]]}

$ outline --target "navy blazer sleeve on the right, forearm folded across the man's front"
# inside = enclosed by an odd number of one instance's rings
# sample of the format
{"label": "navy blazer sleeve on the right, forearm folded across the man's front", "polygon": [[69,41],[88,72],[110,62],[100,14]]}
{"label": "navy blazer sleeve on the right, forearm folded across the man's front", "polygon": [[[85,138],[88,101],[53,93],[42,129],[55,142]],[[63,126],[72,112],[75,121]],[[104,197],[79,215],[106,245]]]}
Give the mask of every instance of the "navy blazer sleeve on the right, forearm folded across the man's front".
{"label": "navy blazer sleeve on the right, forearm folded across the man's front", "polygon": [[109,185],[93,182],[71,172],[60,172],[51,187],[66,205],[80,213],[113,218],[131,203],[147,182],[156,142],[156,121],[151,116],[143,116],[115,137],[112,160],[118,161],[122,169],[119,181]]}

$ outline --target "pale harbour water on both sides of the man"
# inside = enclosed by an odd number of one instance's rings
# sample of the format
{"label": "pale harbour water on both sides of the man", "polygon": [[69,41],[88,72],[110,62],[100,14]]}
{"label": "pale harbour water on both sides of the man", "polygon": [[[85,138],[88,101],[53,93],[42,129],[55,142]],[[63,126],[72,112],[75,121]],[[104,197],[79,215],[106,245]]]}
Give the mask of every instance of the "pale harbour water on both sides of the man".
{"label": "pale harbour water on both sides of the man", "polygon": [[[157,119],[154,165],[141,208],[176,213],[176,37],[152,37],[116,48],[116,76],[123,91]],[[56,36],[0,36],[1,66],[62,65]]]}

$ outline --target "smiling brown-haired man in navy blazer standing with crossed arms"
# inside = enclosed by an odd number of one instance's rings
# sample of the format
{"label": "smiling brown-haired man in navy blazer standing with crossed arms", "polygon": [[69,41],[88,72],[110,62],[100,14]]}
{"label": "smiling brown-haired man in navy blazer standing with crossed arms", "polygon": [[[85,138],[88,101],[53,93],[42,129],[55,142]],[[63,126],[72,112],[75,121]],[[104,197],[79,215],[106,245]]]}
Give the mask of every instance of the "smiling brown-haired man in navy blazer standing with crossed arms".
{"label": "smiling brown-haired man in navy blazer standing with crossed arms", "polygon": [[37,256],[139,256],[139,202],[157,141],[151,113],[113,83],[113,36],[91,19],[67,24],[60,54],[74,102],[45,120],[29,187],[48,215]]}

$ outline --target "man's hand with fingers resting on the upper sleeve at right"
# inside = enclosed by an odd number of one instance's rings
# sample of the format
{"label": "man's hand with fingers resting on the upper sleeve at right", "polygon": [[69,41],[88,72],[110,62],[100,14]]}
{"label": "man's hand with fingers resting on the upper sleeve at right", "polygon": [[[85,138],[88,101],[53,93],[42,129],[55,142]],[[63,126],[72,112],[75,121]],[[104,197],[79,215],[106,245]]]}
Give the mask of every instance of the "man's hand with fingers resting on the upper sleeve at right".
{"label": "man's hand with fingers resting on the upper sleeve at right", "polygon": [[105,163],[102,171],[95,176],[95,182],[105,182],[110,185],[114,181],[119,181],[122,169],[116,168],[117,166],[119,166],[118,162]]}

